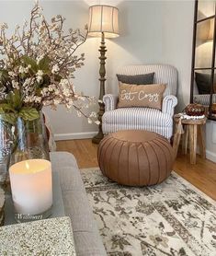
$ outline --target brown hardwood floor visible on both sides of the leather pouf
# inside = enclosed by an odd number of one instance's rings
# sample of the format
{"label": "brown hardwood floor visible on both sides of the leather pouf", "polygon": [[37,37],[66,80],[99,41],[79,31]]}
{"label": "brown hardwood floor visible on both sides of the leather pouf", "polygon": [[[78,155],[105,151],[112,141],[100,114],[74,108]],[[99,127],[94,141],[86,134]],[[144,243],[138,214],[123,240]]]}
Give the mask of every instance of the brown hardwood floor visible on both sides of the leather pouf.
{"label": "brown hardwood floor visible on both sides of the leather pouf", "polygon": [[[80,169],[97,167],[97,145],[90,139],[59,141],[58,151],[68,151],[74,155]],[[174,169],[177,174],[191,182],[200,191],[216,200],[216,163],[197,156],[197,164],[189,163],[189,156],[178,155]]]}

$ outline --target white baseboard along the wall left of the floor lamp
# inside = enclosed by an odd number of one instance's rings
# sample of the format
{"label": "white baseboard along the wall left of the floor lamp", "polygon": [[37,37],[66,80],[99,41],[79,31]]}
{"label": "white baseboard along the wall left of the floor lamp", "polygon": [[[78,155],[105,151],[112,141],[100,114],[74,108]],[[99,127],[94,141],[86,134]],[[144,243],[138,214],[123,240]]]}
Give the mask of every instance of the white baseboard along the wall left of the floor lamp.
{"label": "white baseboard along the wall left of the floor lamp", "polygon": [[55,139],[55,141],[89,139],[89,138],[93,138],[96,134],[97,134],[97,132],[74,133],[74,134],[54,134],[54,139]]}

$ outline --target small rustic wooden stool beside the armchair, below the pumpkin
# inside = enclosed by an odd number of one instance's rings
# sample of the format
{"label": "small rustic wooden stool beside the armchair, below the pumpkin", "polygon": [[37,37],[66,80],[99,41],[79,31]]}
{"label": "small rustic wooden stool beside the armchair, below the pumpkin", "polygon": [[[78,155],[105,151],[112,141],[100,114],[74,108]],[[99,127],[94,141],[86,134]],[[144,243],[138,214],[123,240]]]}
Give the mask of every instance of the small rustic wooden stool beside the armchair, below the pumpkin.
{"label": "small rustic wooden stool beside the armchair, below the pumpkin", "polygon": [[203,126],[205,125],[206,120],[206,117],[201,119],[181,119],[179,115],[174,116],[174,121],[176,123],[176,132],[173,143],[175,156],[177,156],[178,146],[181,135],[183,134],[183,154],[187,154],[189,142],[190,163],[196,164],[197,143],[199,143],[200,156],[206,158],[206,145],[203,134]]}

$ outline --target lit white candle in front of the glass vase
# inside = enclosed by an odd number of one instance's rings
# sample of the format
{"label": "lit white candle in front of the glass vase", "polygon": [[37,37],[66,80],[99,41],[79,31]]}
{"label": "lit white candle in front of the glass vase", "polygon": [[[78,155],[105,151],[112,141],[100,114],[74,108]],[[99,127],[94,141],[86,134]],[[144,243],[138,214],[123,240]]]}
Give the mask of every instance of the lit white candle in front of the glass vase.
{"label": "lit white candle in front of the glass vase", "polygon": [[21,161],[9,169],[15,211],[40,215],[51,208],[51,162],[44,159]]}

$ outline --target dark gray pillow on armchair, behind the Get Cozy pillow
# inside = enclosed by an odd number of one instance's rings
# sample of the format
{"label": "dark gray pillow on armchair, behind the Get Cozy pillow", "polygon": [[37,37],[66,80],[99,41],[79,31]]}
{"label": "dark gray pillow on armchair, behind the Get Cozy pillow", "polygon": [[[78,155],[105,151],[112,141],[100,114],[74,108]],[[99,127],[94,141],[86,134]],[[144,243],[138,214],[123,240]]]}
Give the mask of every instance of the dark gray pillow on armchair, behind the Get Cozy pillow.
{"label": "dark gray pillow on armchair, behind the Get Cozy pillow", "polygon": [[130,85],[150,85],[153,84],[154,73],[126,76],[126,75],[116,75],[119,82],[130,84]]}

